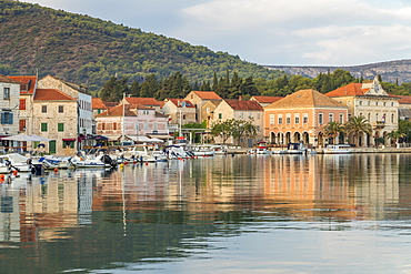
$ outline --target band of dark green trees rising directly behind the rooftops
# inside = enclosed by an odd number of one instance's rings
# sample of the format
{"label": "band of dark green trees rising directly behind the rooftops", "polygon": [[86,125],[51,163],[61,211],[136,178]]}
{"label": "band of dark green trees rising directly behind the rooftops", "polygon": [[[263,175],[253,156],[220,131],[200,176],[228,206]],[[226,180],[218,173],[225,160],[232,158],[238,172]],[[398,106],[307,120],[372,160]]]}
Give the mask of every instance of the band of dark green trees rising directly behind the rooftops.
{"label": "band of dark green trees rising directly behind the rooftops", "polygon": [[[154,74],[150,74],[144,82],[133,81],[131,85],[129,85],[128,79],[112,77],[104,83],[99,97],[103,101],[120,101],[126,93],[132,97],[153,97],[157,100],[163,100],[166,98],[184,98],[191,90],[199,90],[215,91],[224,99],[242,97],[247,100],[252,95],[284,97],[302,89],[313,89],[327,93],[352,82],[362,82],[362,80],[355,79],[350,72],[340,69],[333,73],[321,73],[314,79],[283,75],[271,80],[253,79],[252,77],[243,79],[237,72],[231,73],[227,70],[224,77],[218,78],[214,74],[212,81],[203,81],[201,84],[193,85],[180,72],[176,72],[160,80]],[[392,94],[411,94],[410,83],[398,85],[382,82],[382,85],[385,91]]]}

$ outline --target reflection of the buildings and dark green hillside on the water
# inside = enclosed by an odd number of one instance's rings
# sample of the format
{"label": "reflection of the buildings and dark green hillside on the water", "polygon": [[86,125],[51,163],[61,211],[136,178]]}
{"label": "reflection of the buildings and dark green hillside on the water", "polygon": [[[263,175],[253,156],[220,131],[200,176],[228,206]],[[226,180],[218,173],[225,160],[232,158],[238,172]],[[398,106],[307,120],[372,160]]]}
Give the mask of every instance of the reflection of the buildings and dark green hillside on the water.
{"label": "reflection of the buildings and dark green hillside on the water", "polygon": [[375,221],[408,230],[395,221],[411,216],[410,161],[239,155],[22,174],[0,184],[0,261],[26,273],[152,267],[210,251],[221,236],[367,231]]}

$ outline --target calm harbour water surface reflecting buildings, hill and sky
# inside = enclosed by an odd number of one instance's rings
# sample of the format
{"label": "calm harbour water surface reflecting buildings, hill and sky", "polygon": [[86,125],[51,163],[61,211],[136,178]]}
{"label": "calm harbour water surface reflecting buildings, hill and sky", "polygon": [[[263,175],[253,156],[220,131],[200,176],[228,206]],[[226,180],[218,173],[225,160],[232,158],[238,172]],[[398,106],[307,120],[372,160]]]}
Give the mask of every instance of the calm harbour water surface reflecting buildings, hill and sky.
{"label": "calm harbour water surface reflecting buildings, hill and sky", "polygon": [[0,199],[0,273],[411,273],[411,154],[61,170]]}

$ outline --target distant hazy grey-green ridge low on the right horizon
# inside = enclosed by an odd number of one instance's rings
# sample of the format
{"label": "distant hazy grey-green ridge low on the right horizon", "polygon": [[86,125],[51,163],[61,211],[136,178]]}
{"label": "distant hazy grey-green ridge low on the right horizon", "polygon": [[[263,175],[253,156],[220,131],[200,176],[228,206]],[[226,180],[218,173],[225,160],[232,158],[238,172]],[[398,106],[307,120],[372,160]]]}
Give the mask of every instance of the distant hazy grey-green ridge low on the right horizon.
{"label": "distant hazy grey-green ridge low on the right horizon", "polygon": [[280,70],[289,74],[315,78],[320,73],[333,72],[337,69],[349,71],[355,78],[373,79],[380,74],[385,82],[411,82],[411,60],[398,60],[352,67],[293,67],[265,65],[268,69]]}

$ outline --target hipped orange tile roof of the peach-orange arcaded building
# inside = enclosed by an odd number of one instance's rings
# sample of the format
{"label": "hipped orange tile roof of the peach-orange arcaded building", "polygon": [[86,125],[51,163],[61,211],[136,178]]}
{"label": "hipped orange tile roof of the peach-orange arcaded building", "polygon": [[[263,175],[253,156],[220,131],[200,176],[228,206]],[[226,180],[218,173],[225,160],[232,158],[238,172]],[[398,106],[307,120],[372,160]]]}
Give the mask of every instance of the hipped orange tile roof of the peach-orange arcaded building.
{"label": "hipped orange tile roof of the peach-orange arcaded building", "polygon": [[285,98],[267,105],[264,109],[344,106],[334,99],[328,98],[315,90],[299,90]]}

